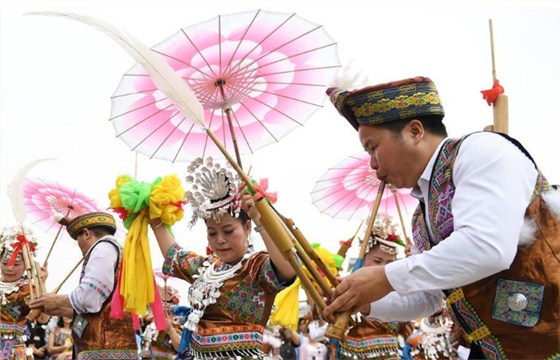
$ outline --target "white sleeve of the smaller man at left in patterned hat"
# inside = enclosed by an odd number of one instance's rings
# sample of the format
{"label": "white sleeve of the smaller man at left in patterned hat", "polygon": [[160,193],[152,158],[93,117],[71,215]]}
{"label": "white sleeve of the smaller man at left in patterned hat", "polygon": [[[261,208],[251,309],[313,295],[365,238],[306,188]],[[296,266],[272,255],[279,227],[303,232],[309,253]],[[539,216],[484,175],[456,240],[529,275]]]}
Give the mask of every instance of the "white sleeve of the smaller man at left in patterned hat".
{"label": "white sleeve of the smaller man at left in patterned hat", "polygon": [[92,250],[80,285],[70,293],[70,303],[78,314],[101,310],[113,291],[117,259],[117,249],[109,242],[101,242]]}

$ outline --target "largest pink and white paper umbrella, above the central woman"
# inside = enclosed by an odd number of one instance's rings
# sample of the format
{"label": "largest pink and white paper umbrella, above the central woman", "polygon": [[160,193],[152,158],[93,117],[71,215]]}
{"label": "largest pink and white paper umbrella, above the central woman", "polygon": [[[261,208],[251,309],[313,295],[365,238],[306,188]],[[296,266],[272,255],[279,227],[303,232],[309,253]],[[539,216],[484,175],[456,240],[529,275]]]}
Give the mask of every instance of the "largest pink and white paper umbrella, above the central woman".
{"label": "largest pink and white paper umbrella, above the central woman", "polygon": [[[218,16],[158,44],[204,108],[206,127],[227,150],[253,153],[302,125],[326,99],[340,66],[322,26],[295,14]],[[112,97],[111,121],[130,148],[170,161],[223,157],[205,129],[185,118],[139,64]]]}

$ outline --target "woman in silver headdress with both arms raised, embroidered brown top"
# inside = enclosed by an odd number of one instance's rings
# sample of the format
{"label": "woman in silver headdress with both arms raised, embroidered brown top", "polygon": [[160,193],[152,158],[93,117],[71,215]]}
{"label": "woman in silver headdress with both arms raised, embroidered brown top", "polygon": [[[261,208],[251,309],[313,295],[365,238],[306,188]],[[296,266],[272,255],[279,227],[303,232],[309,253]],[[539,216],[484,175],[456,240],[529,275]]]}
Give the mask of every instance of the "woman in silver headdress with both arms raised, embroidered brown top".
{"label": "woman in silver headdress with both arms raised, embroidered brown top", "polygon": [[[240,184],[231,171],[210,158],[195,160],[188,171],[191,224],[204,220],[212,254],[183,249],[159,219],[150,222],[165,257],[163,272],[192,284],[180,356],[264,358],[263,331],[274,297],[291,284],[295,271],[260,224],[253,197],[238,192]],[[252,253],[251,222],[268,252]]]}

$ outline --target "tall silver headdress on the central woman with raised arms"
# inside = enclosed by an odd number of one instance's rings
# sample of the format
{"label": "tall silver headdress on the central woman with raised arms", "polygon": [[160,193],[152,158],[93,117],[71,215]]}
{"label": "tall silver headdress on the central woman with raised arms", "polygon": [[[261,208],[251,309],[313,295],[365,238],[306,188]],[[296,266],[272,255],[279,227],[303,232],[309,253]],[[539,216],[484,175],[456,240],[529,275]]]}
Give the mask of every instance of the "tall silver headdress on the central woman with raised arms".
{"label": "tall silver headdress on the central woman with raised arms", "polygon": [[229,214],[233,217],[239,215],[241,210],[237,197],[239,177],[227,168],[214,162],[211,157],[197,158],[187,167],[187,183],[191,190],[186,197],[191,204],[193,217],[191,226],[198,219],[212,217],[220,221],[220,217]]}

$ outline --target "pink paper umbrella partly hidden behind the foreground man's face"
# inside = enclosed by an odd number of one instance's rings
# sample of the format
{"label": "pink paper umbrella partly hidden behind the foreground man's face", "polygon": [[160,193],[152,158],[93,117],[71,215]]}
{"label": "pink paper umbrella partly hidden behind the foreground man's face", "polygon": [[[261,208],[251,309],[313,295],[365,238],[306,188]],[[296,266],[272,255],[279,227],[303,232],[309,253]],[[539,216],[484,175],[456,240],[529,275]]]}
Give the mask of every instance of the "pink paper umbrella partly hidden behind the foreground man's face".
{"label": "pink paper umbrella partly hidden behind the foreground man's face", "polygon": [[[360,152],[321,176],[311,192],[313,204],[321,213],[345,220],[369,217],[380,184],[369,161],[369,155]],[[395,189],[387,185],[379,211],[396,214],[399,209],[414,209],[417,203],[418,200],[410,195],[410,189]]]}

